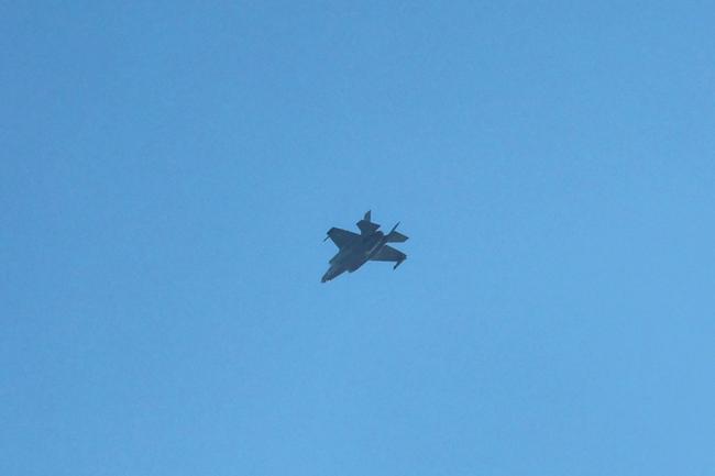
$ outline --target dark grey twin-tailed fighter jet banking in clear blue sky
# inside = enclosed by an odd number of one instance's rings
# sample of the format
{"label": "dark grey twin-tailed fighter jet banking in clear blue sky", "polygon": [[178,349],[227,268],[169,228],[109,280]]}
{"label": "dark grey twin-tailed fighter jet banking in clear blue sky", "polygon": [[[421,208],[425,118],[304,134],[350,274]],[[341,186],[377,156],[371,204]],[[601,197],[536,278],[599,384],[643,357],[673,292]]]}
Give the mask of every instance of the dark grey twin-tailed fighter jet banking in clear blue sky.
{"label": "dark grey twin-tailed fighter jet banking in clear blue sky", "polygon": [[332,240],[340,251],[330,259],[330,268],[328,268],[320,281],[329,281],[344,272],[352,273],[369,261],[396,262],[393,267],[393,269],[396,269],[407,259],[405,253],[387,245],[387,243],[407,241],[407,236],[395,231],[398,224],[399,222],[393,226],[389,233],[384,234],[377,231],[380,225],[371,221],[369,210],[365,217],[358,222],[360,234],[339,228],[328,230],[326,240]]}

